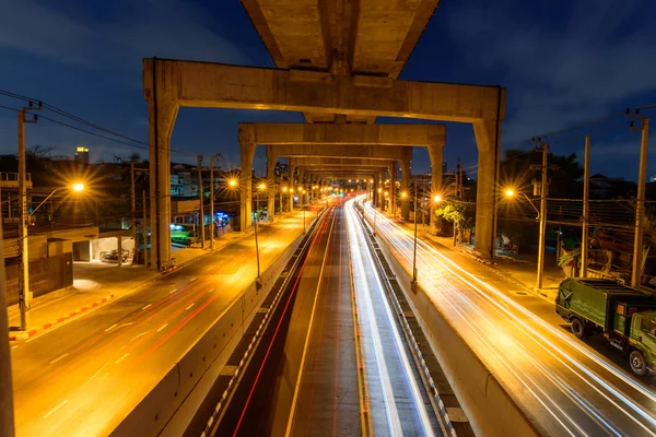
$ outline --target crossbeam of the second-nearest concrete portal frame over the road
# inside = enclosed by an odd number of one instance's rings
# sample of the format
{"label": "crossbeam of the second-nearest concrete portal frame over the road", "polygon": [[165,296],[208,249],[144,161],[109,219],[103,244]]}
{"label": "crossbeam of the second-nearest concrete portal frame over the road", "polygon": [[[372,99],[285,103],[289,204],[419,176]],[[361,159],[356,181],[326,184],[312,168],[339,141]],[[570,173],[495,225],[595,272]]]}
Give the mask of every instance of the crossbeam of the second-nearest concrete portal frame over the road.
{"label": "crossbeam of the second-nearest concrete portal frame over the road", "polygon": [[256,144],[444,145],[444,125],[239,123]]}

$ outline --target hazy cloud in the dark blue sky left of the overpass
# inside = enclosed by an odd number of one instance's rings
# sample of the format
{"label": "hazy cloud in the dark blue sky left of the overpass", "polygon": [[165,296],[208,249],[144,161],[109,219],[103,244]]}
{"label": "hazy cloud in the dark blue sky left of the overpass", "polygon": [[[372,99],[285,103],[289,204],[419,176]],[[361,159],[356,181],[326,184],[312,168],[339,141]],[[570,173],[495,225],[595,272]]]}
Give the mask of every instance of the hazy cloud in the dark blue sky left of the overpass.
{"label": "hazy cloud in the dark blue sky left of the overpass", "polygon": [[[159,56],[227,63],[248,58],[214,32],[207,11],[181,0],[5,2],[0,48],[118,74],[141,71],[141,58]],[[126,4],[122,4],[126,3]]]}

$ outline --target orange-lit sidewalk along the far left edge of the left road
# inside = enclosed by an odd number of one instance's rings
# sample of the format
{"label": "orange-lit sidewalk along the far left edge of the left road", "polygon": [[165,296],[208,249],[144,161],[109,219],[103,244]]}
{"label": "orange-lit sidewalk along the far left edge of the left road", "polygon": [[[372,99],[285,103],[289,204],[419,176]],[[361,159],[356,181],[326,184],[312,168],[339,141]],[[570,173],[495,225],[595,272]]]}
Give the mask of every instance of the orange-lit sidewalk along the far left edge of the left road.
{"label": "orange-lit sidewalk along the far left edge of the left road", "polygon": [[[268,224],[260,224],[260,226],[262,225],[267,226]],[[253,231],[222,235],[214,239],[214,251],[251,234]],[[172,256],[175,258],[176,270],[211,253],[209,247],[209,241],[206,241],[206,249],[174,247]],[[16,331],[15,328],[21,324],[19,305],[7,308],[9,326],[14,327],[10,330],[10,340],[24,340],[57,323],[81,317],[160,276],[160,273],[145,270],[143,265],[127,263],[118,267],[115,263],[98,261],[74,262],[72,286],[33,299],[27,332]]]}

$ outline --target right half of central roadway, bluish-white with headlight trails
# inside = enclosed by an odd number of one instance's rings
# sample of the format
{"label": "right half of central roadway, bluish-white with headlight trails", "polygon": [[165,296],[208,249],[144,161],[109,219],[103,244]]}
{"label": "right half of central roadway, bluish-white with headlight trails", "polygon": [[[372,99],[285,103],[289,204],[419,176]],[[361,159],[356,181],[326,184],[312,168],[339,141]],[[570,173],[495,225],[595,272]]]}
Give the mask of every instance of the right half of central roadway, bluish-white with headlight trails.
{"label": "right half of central roadway, bluish-white with headlight trails", "polygon": [[345,210],[374,435],[442,435],[385,295],[354,200]]}

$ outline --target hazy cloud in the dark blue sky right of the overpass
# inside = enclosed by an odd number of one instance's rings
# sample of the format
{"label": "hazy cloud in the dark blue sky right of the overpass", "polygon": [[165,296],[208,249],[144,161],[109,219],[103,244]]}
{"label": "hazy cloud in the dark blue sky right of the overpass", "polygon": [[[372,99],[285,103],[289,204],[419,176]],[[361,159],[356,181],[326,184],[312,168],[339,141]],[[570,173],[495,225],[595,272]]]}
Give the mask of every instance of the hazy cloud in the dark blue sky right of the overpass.
{"label": "hazy cloud in the dark blue sky right of the overpass", "polygon": [[[461,3],[464,4],[464,3]],[[467,2],[449,35],[508,88],[505,145],[621,109],[656,91],[656,3]]]}

